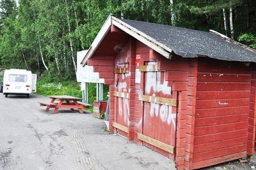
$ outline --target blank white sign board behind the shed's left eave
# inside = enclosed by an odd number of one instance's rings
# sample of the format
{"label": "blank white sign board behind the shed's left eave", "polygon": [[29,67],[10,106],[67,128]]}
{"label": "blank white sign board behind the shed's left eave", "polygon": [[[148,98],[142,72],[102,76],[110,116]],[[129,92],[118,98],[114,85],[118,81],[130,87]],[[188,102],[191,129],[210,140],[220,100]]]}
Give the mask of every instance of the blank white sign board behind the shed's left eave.
{"label": "blank white sign board behind the shed's left eave", "polygon": [[103,78],[99,78],[99,73],[93,72],[93,66],[84,66],[81,64],[88,50],[77,52],[77,82],[86,83],[104,83]]}

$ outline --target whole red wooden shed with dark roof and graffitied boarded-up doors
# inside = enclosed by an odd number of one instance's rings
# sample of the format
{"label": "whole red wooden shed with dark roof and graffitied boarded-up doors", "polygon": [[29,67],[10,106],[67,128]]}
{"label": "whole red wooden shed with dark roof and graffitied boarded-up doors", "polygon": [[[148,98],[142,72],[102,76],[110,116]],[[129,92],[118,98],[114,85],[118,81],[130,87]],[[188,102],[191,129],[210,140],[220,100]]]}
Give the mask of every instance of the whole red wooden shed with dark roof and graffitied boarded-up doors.
{"label": "whole red wooden shed with dark roof and graffitied boarded-up doors", "polygon": [[198,169],[253,155],[255,62],[214,31],[109,16],[82,64],[109,85],[110,132]]}

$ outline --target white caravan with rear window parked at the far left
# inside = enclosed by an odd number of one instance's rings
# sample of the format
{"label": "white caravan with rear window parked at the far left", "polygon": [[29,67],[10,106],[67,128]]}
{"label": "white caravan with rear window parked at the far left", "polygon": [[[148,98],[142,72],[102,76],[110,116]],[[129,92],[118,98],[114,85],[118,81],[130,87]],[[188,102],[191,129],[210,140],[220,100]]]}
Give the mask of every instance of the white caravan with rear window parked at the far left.
{"label": "white caravan with rear window parked at the far left", "polygon": [[36,92],[36,74],[26,69],[6,69],[4,71],[3,94],[23,94],[29,97]]}

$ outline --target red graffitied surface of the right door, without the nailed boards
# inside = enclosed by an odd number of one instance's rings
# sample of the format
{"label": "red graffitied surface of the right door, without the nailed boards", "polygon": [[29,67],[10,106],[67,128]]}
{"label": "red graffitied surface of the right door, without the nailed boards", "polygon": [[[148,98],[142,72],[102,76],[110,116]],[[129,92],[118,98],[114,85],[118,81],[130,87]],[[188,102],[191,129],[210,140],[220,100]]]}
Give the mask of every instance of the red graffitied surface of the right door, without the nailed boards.
{"label": "red graffitied surface of the right door, without the nailed boards", "polygon": [[[157,62],[148,62],[147,65],[156,66]],[[177,99],[177,95],[173,95],[172,93],[172,87],[170,85],[170,82],[164,80],[165,73],[166,72],[164,71],[145,71],[145,96],[156,96]],[[163,143],[166,143],[167,145],[174,147],[176,115],[176,106],[144,102],[143,134],[145,136],[156,139],[157,141],[161,141]],[[156,148],[154,146],[148,145],[145,142],[143,142],[143,145],[146,145],[164,155],[169,155],[169,153],[164,152],[163,150]]]}

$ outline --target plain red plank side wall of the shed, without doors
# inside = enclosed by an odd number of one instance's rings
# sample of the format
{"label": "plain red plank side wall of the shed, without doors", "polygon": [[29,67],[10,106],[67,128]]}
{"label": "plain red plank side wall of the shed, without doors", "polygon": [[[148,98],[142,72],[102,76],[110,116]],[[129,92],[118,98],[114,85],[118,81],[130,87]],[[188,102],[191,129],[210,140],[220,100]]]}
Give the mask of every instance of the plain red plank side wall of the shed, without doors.
{"label": "plain red plank side wall of the shed, without doors", "polygon": [[246,156],[250,67],[198,61],[192,169]]}

